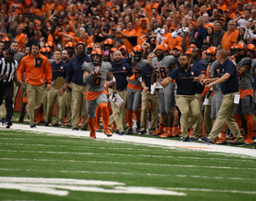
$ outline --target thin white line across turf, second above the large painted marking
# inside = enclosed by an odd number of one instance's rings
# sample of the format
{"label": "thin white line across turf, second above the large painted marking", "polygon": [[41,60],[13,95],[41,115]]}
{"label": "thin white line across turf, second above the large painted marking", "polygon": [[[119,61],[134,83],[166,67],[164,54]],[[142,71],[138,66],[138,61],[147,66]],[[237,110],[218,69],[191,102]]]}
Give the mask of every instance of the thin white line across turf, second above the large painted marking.
{"label": "thin white line across turf, second above the large painted marking", "polygon": [[148,164],[148,163],[125,163],[125,162],[105,162],[105,161],[76,161],[76,160],[58,160],[58,159],[30,159],[30,158],[0,158],[5,161],[43,161],[43,162],[69,162],[69,163],[87,163],[87,164],[135,164],[135,165],[153,165],[153,166],[178,166],[178,167],[203,167],[214,169],[235,169],[235,170],[256,170],[256,168],[246,167],[225,167],[225,166],[200,166],[184,164]]}

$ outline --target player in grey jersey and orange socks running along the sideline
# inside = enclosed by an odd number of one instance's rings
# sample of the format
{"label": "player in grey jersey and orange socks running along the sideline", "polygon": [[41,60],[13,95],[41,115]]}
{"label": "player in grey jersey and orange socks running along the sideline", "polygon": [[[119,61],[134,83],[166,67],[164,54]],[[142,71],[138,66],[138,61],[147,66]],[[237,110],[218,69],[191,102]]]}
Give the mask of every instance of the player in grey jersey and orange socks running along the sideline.
{"label": "player in grey jersey and orange socks running along the sideline", "polygon": [[103,132],[108,136],[112,136],[109,129],[109,110],[107,91],[104,88],[107,77],[112,82],[113,96],[116,96],[116,81],[112,75],[112,65],[109,62],[102,62],[103,53],[101,49],[95,48],[91,51],[91,63],[82,66],[83,81],[88,84],[86,91],[88,122],[91,128],[91,139],[96,138],[95,131],[95,111],[97,105],[101,108],[101,116],[103,122]]}

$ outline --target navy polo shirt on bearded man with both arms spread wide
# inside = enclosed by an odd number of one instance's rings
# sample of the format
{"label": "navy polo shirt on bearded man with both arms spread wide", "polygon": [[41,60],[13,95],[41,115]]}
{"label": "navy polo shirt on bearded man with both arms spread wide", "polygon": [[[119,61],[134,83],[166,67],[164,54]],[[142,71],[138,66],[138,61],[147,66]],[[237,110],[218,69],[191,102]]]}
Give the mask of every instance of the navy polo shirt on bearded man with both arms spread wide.
{"label": "navy polo shirt on bearded man with both arms spread wide", "polygon": [[201,75],[200,70],[190,67],[187,72],[181,68],[174,69],[168,77],[176,79],[178,95],[195,95],[197,91],[197,82],[195,77]]}

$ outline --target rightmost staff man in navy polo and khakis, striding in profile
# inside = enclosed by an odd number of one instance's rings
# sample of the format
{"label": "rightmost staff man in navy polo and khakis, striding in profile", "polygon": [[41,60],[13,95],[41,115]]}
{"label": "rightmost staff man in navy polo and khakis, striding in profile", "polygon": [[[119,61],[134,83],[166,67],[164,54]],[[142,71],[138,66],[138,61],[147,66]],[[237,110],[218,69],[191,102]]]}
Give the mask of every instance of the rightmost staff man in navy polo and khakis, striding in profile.
{"label": "rightmost staff man in navy polo and khakis, striding in profile", "polygon": [[200,141],[208,144],[214,143],[215,138],[219,135],[223,124],[226,122],[235,138],[229,145],[244,145],[245,143],[243,136],[240,134],[240,128],[233,116],[234,108],[237,105],[237,103],[234,103],[234,99],[235,96],[239,95],[237,69],[233,62],[229,60],[228,51],[224,48],[218,50],[217,60],[222,65],[219,69],[219,78],[202,79],[200,82],[202,84],[208,82],[209,89],[220,83],[220,89],[224,94],[223,100],[217,119],[213,124],[211,132],[208,134],[208,138],[204,138]]}

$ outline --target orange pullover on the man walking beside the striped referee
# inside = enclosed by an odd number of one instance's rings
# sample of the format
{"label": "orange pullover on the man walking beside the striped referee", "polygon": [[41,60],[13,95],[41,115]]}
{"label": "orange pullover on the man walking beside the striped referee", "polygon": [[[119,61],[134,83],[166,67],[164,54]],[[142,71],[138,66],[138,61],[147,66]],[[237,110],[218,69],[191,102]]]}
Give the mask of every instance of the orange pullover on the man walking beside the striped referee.
{"label": "orange pullover on the man walking beside the striped referee", "polygon": [[22,80],[25,71],[25,82],[34,86],[45,84],[46,81],[52,81],[52,69],[48,62],[48,58],[38,54],[36,58],[27,55],[22,58],[17,69],[16,76],[18,80]]}

